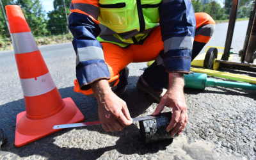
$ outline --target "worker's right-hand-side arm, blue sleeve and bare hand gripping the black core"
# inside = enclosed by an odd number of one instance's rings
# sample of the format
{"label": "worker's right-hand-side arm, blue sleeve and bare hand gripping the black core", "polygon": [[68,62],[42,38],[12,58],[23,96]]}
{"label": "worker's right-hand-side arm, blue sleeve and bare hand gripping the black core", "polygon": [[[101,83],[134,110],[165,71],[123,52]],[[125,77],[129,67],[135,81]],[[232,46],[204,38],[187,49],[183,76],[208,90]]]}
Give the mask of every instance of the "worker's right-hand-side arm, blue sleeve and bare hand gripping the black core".
{"label": "worker's right-hand-side arm, blue sleeve and bare hand gripping the black core", "polygon": [[162,40],[164,42],[164,66],[169,73],[169,88],[157,106],[158,115],[164,106],[173,108],[172,120],[166,131],[172,136],[186,127],[188,113],[184,98],[183,74],[189,74],[196,20],[189,0],[163,0],[159,8]]}

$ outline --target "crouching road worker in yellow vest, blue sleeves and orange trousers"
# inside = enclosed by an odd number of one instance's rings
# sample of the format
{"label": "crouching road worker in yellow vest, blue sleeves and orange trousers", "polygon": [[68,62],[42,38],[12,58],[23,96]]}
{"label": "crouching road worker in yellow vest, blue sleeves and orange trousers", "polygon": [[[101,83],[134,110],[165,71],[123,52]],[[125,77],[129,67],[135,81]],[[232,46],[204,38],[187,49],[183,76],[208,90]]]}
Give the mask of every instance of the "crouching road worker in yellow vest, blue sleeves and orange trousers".
{"label": "crouching road worker in yellow vest, blue sleeves and orange trousers", "polygon": [[[214,32],[206,13],[194,13],[189,0],[72,0],[68,28],[76,51],[76,92],[96,97],[105,131],[132,124],[124,100],[129,63],[156,60],[137,87],[173,108],[166,127],[172,136],[188,122],[183,74]],[[168,86],[168,90],[165,87]]]}

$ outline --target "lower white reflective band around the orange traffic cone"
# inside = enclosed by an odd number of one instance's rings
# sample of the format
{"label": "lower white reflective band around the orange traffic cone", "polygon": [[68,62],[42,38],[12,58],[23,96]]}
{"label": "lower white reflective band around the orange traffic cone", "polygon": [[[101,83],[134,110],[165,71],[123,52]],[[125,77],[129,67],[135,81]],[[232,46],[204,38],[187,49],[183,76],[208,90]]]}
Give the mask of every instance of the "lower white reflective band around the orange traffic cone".
{"label": "lower white reflective band around the orange traffic cone", "polygon": [[49,72],[40,77],[20,79],[20,83],[23,94],[27,97],[48,93],[56,87]]}

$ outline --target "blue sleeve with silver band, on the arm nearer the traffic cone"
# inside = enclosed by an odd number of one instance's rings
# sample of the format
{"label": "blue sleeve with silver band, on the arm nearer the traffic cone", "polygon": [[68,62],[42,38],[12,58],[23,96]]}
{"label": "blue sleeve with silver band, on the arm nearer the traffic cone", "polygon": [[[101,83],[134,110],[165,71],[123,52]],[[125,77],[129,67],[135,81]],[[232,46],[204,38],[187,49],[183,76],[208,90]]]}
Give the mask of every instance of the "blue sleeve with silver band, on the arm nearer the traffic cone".
{"label": "blue sleeve with silver band, on the arm nearer the traffic cone", "polygon": [[109,79],[108,65],[104,61],[102,45],[96,39],[99,25],[81,13],[71,13],[68,20],[76,51],[76,77],[81,90],[90,89],[90,83],[98,79]]}

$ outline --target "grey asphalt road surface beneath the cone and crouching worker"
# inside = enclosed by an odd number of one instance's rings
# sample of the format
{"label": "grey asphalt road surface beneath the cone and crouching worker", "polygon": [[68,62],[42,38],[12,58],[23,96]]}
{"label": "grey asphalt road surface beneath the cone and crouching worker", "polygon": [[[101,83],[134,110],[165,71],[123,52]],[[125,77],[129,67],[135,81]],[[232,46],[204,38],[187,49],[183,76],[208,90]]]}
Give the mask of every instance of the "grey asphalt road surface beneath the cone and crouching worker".
{"label": "grey asphalt road surface beneath the cone and crouching worker", "polygon": [[[232,47],[243,47],[248,21],[237,22]],[[209,45],[224,46],[227,24],[217,24]],[[99,120],[97,101],[73,92],[75,53],[72,44],[40,47],[61,96],[71,97],[85,122]],[[100,126],[63,129],[30,143],[14,146],[17,113],[25,110],[13,51],[0,52],[0,126],[8,142],[0,159],[255,159],[256,92],[222,87],[185,89],[189,122],[175,140],[144,145],[138,123],[121,132],[104,132]],[[150,115],[157,102],[136,88],[146,63],[129,65],[128,90],[120,96],[132,117]],[[256,77],[254,73],[239,72]],[[164,111],[170,111],[166,108]]]}

